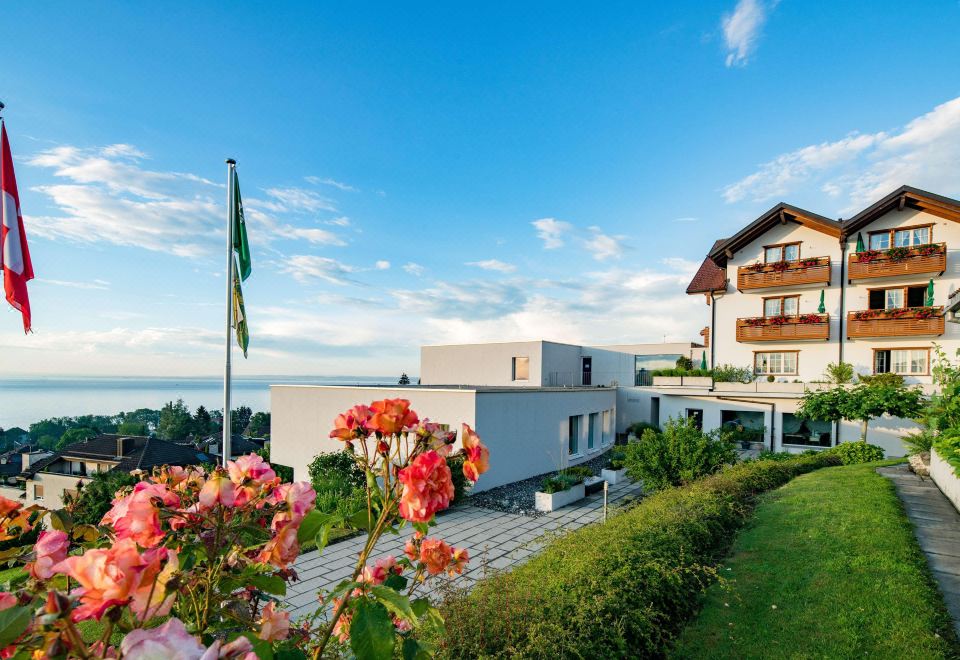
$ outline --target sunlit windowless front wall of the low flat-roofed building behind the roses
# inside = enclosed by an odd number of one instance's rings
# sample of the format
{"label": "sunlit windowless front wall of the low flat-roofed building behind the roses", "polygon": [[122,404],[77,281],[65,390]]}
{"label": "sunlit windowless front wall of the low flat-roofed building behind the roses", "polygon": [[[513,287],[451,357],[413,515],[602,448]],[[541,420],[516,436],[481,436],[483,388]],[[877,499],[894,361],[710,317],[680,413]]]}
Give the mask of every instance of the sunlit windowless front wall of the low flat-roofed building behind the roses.
{"label": "sunlit windowless front wall of the low flat-roofed building behind the roses", "polygon": [[343,449],[343,442],[329,437],[337,415],[386,398],[408,399],[421,419],[450,424],[458,431],[462,423],[476,428],[472,389],[272,385],[270,460],[292,467],[295,480],[309,480],[307,465],[317,454]]}

